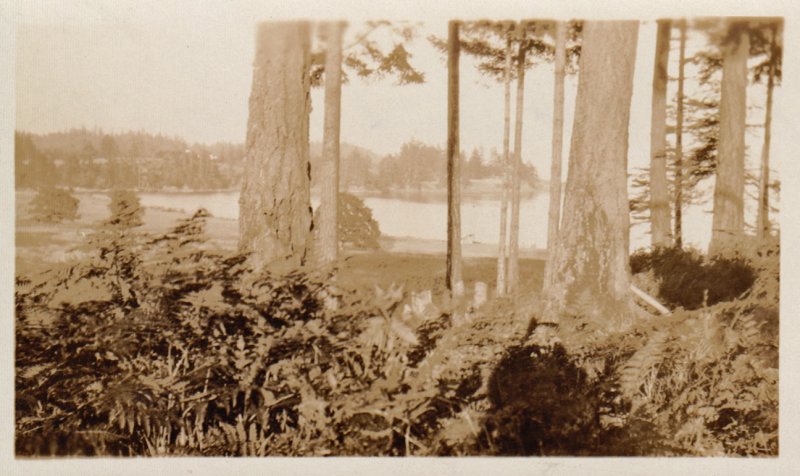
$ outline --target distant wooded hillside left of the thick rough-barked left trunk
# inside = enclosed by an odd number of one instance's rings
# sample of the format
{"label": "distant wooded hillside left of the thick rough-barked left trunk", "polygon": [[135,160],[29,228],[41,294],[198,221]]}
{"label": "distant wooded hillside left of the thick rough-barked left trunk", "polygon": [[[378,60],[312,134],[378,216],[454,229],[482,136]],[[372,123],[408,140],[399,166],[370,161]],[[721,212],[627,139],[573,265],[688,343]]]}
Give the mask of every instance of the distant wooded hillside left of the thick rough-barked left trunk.
{"label": "distant wooded hillside left of the thick rough-barked left trunk", "polygon": [[241,144],[190,145],[144,132],[17,132],[14,142],[18,188],[225,189],[239,183],[243,156]]}

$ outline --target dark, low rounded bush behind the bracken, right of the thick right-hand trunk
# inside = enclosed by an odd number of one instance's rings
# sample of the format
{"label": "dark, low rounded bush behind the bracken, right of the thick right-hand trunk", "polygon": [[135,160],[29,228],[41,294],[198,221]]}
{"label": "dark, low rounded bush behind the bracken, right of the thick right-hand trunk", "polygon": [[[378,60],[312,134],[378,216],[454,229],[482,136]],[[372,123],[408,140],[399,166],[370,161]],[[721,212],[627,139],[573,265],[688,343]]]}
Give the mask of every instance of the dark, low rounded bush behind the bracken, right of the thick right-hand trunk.
{"label": "dark, low rounded bush behind the bracken, right of the thick right-hand trunk", "polygon": [[696,251],[678,248],[639,251],[631,256],[630,263],[634,274],[652,270],[663,301],[684,309],[730,301],[755,280],[752,266],[742,257],[708,260]]}

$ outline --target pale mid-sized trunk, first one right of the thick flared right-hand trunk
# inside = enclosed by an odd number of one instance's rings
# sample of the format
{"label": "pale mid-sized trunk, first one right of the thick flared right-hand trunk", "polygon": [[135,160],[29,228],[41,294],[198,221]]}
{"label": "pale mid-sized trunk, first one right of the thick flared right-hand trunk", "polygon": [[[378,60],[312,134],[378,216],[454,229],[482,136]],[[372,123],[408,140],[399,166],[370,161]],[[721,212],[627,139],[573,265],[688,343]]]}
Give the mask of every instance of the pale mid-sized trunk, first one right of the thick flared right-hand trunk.
{"label": "pale mid-sized trunk, first one right of the thick flared right-hand trunk", "polygon": [[653,248],[670,246],[670,209],[667,187],[667,81],[670,20],[658,21],[653,66],[653,103],[650,122],[650,226]]}

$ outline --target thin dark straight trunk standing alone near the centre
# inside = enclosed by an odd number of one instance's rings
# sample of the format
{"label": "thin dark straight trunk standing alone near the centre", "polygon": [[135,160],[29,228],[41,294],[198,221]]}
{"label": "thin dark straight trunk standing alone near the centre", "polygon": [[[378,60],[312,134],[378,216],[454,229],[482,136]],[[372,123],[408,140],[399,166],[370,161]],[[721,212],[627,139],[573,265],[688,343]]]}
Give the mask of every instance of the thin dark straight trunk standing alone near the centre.
{"label": "thin dark straight trunk standing alone near the centre", "polygon": [[464,292],[461,279],[461,167],[459,162],[458,63],[461,43],[459,23],[451,21],[447,35],[447,288]]}

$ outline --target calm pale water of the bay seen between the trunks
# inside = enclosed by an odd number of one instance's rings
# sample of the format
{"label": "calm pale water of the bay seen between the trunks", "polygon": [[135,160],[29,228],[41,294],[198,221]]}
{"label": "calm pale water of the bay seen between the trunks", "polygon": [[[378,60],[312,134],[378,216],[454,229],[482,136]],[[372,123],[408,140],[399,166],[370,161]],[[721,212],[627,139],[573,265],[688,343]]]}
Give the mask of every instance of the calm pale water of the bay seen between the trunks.
{"label": "calm pale water of the bay seen between the trunks", "polygon": [[[193,212],[202,207],[212,215],[236,219],[239,215],[239,192],[175,192],[141,193],[142,205]],[[395,197],[362,197],[372,209],[381,233],[394,237],[432,240],[447,239],[447,202],[441,197],[429,200],[408,200]],[[316,208],[318,199],[312,199]],[[709,206],[710,207],[710,206]],[[520,246],[544,248],[547,242],[546,192],[520,203]],[[500,227],[500,204],[497,199],[468,199],[461,207],[461,234],[465,243],[497,243]],[[700,207],[684,211],[684,241],[705,248],[711,235],[711,215]],[[631,248],[649,244],[646,225],[631,230]]]}

